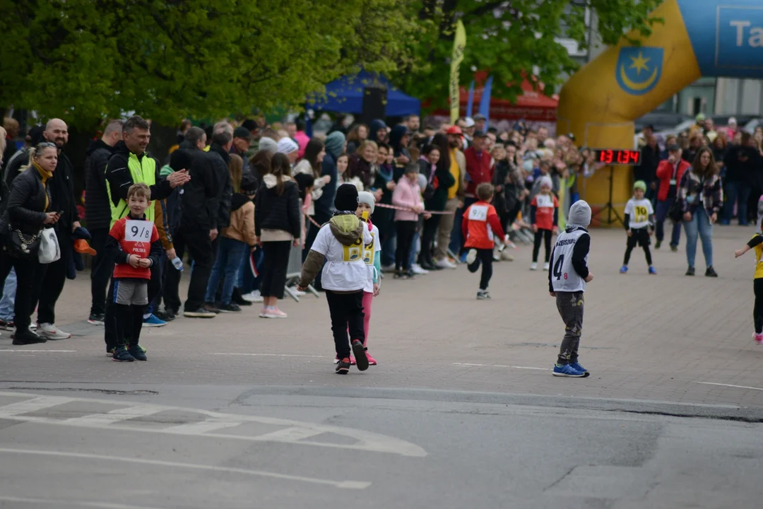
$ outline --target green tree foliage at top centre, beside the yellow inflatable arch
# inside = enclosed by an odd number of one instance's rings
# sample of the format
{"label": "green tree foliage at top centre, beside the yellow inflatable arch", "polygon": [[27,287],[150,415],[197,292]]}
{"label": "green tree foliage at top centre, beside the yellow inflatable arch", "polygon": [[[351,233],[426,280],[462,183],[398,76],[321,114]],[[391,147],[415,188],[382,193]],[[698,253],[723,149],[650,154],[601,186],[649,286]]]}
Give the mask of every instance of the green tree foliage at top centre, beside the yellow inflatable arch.
{"label": "green tree foliage at top centre, beside the yellow inflatable arch", "polygon": [[614,44],[626,31],[651,33],[649,17],[662,0],[420,0],[414,15],[422,21],[423,34],[412,48],[419,69],[400,75],[405,91],[433,99],[444,106],[448,98],[449,59],[456,20],[466,28],[465,59],[460,79],[472,81],[475,70],[494,76],[492,95],[513,99],[520,93],[523,73],[533,73],[550,87],[578,68],[556,39],[576,40],[589,47],[586,10],[597,17],[604,44]]}

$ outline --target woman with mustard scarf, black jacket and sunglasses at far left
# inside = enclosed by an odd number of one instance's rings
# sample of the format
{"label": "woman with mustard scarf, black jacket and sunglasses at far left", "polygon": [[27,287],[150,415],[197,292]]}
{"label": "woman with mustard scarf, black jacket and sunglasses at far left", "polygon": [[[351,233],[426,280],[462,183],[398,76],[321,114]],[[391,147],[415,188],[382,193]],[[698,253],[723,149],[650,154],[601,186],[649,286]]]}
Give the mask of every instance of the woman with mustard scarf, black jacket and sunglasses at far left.
{"label": "woman with mustard scarf, black jacket and sunglasses at far left", "polygon": [[[39,270],[37,247],[24,253],[14,249],[15,240],[29,240],[40,235],[46,225],[56,224],[57,212],[48,211],[50,191],[47,181],[53,177],[58,164],[58,150],[55,143],[39,143],[29,152],[29,166],[13,180],[8,196],[8,209],[0,221],[0,231],[5,235],[7,249],[3,256],[2,279],[8,275],[11,266],[16,269],[16,300],[14,315],[16,333],[14,345],[45,343],[41,337],[29,330],[31,323],[31,304],[34,289],[42,284],[44,271]],[[16,239],[10,236],[16,236]],[[38,244],[39,246],[39,244]],[[23,246],[21,246],[23,247]],[[37,292],[39,293],[39,292]]]}

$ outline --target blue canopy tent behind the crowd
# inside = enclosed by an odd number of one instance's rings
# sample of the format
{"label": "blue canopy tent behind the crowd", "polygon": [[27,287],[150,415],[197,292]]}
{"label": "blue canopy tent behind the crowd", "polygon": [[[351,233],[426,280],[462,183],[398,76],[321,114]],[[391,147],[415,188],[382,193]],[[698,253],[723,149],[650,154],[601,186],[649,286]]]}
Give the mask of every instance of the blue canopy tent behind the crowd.
{"label": "blue canopy tent behind the crowd", "polygon": [[360,71],[356,76],[342,76],[326,85],[325,97],[308,99],[307,108],[337,113],[362,114],[363,90],[381,88],[387,91],[386,114],[388,117],[403,117],[419,114],[421,102],[410,95],[405,95],[395,88],[384,76]]}

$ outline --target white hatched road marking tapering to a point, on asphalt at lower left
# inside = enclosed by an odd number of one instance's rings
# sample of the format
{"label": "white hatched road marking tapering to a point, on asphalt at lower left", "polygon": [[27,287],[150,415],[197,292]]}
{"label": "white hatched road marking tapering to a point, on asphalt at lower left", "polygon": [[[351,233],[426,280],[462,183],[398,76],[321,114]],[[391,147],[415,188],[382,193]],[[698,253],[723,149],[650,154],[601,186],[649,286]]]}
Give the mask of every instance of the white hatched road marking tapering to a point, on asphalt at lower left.
{"label": "white hatched road marking tapering to a point, on asphalt at lower left", "polygon": [[[108,430],[124,430],[141,433],[166,433],[174,435],[187,435],[196,437],[210,437],[222,440],[247,440],[250,442],[276,442],[290,443],[295,445],[307,445],[317,447],[331,447],[338,449],[362,450],[372,453],[389,453],[401,456],[423,458],[427,451],[414,443],[406,442],[394,437],[388,437],[369,431],[356,430],[349,427],[328,426],[300,422],[297,420],[276,419],[273,417],[259,417],[241,414],[222,414],[201,410],[198,408],[178,408],[158,404],[130,404],[128,401],[101,400],[90,398],[62,398],[59,396],[37,396],[34,394],[18,392],[0,392],[0,396],[27,397],[26,401],[19,401],[5,406],[0,406],[0,419],[21,420],[37,424],[53,424],[59,426],[75,426],[101,428]],[[59,404],[77,401],[78,403],[101,403],[120,404],[125,408],[102,412],[100,414],[88,414],[82,417],[69,419],[26,415],[44,408],[54,407]],[[168,427],[142,426],[140,421],[125,421],[133,417],[146,417],[159,411],[182,411],[199,414],[204,417],[200,422],[188,422]],[[150,421],[150,419],[147,419]],[[161,424],[160,420],[157,420]],[[251,433],[251,427],[246,424],[269,424],[283,427],[284,430],[276,430],[271,433],[260,435]],[[154,423],[156,424],[156,423]],[[241,431],[236,433],[234,428],[242,426]],[[228,433],[214,433],[216,430],[233,428]],[[348,437],[346,443],[321,442],[317,440],[305,440],[316,437],[323,433],[333,433],[341,437]]]}

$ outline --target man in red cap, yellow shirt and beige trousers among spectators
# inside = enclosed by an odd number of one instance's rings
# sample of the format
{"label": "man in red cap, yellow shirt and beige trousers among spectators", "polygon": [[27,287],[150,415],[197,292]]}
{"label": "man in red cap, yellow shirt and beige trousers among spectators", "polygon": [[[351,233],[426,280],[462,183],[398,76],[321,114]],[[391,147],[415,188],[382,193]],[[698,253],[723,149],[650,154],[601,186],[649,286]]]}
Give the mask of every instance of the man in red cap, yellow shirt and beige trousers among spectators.
{"label": "man in red cap, yellow shirt and beige trousers among spectators", "polygon": [[[458,231],[456,244],[461,243],[461,228],[454,230],[453,223],[456,221],[456,211],[464,206],[464,176],[466,175],[466,159],[464,153],[460,150],[463,143],[463,134],[461,127],[454,125],[447,130],[448,145],[450,147],[448,157],[450,161],[450,174],[456,179],[456,183],[448,188],[448,201],[445,204],[445,211],[450,214],[444,214],[439,220],[439,230],[437,234],[437,247],[435,250],[435,264],[443,269],[456,269],[456,264],[451,263],[447,256],[448,244],[450,243],[451,233]],[[444,157],[443,154],[440,157]],[[459,223],[461,224],[460,220]],[[457,248],[456,248],[457,249]],[[456,251],[454,250],[454,253]]]}

